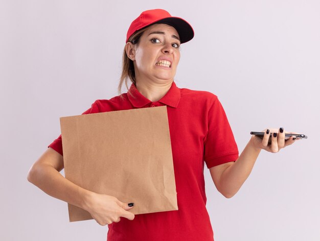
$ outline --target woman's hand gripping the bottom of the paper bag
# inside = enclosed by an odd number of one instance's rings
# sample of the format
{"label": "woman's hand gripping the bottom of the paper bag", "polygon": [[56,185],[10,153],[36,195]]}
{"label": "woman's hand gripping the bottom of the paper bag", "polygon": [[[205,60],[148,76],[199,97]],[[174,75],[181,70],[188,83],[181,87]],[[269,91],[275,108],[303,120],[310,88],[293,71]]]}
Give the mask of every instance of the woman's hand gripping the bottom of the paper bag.
{"label": "woman's hand gripping the bottom of the paper bag", "polygon": [[113,222],[120,222],[120,217],[133,220],[134,214],[127,211],[132,207],[129,207],[128,203],[119,201],[116,197],[90,192],[85,210],[91,214],[98,224],[104,226]]}

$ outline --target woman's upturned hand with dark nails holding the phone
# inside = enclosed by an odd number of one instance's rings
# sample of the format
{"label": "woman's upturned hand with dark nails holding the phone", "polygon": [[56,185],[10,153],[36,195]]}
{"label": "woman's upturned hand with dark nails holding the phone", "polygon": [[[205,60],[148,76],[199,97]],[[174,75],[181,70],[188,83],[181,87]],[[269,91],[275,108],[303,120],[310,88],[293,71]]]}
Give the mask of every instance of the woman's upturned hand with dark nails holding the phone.
{"label": "woman's upturned hand with dark nails holding the phone", "polygon": [[[250,139],[252,144],[257,149],[264,149],[267,152],[277,153],[282,148],[285,148],[289,146],[290,144],[293,144],[296,140],[299,140],[300,138],[291,136],[289,139],[285,139],[285,134],[299,134],[295,132],[287,132],[284,131],[283,128],[280,129],[265,129],[263,130],[264,136],[263,139],[261,139],[258,136],[253,135]],[[271,143],[269,142],[269,136],[270,133],[272,134],[271,137]]]}

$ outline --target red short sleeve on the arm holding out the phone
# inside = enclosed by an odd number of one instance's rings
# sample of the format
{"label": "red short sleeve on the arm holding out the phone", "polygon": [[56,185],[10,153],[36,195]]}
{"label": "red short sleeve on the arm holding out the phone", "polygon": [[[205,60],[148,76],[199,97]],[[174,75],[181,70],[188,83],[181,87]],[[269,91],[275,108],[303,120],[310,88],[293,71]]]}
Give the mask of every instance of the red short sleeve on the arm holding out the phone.
{"label": "red short sleeve on the arm holding out the phone", "polygon": [[204,138],[203,159],[208,168],[230,161],[239,157],[230,124],[224,109],[216,98],[208,112],[208,133]]}

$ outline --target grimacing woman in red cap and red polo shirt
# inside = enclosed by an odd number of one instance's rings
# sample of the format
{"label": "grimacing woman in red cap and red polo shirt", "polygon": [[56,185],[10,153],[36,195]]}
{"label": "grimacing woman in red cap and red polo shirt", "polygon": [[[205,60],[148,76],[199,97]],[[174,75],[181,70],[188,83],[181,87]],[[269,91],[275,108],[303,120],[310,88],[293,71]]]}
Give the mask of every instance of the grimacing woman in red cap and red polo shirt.
{"label": "grimacing woman in red cap and red polo shirt", "polygon": [[[239,156],[216,95],[178,88],[174,82],[179,46],[193,35],[187,21],[165,10],[141,13],[128,30],[123,56],[119,91],[130,80],[129,91],[110,100],[97,100],[83,113],[167,106],[179,210],[134,216],[130,209],[139,205],[134,200],[123,203],[66,180],[59,173],[63,168],[61,135],[30,169],[28,180],[44,192],[87,210],[100,225],[108,224],[107,240],[212,241],[205,208],[204,163],[217,189],[231,198],[247,179],[262,149],[275,153],[295,141],[294,137],[285,140],[289,132],[283,128],[266,129],[263,139],[252,136]],[[270,132],[274,134],[268,144]]]}

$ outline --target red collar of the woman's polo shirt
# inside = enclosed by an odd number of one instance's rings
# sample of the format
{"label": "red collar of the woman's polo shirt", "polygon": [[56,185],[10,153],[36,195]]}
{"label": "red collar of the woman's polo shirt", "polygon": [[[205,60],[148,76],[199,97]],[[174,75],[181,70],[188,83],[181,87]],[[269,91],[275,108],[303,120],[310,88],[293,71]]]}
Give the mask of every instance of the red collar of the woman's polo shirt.
{"label": "red collar of the woman's polo shirt", "polygon": [[[132,95],[135,97],[132,97],[130,93],[132,93]],[[150,100],[148,100],[147,98],[144,97],[144,95],[142,95],[139,90],[135,87],[135,85],[132,83],[130,86],[130,89],[127,93],[128,95],[128,99],[131,102],[131,104],[134,107],[137,108],[141,108],[147,104],[149,104]],[[179,104],[180,101],[180,89],[176,86],[176,84],[174,83],[174,81],[171,84],[170,89],[168,90],[168,92],[165,94],[165,96],[161,99],[158,100],[158,102],[161,102],[165,105],[171,106],[176,108]]]}

